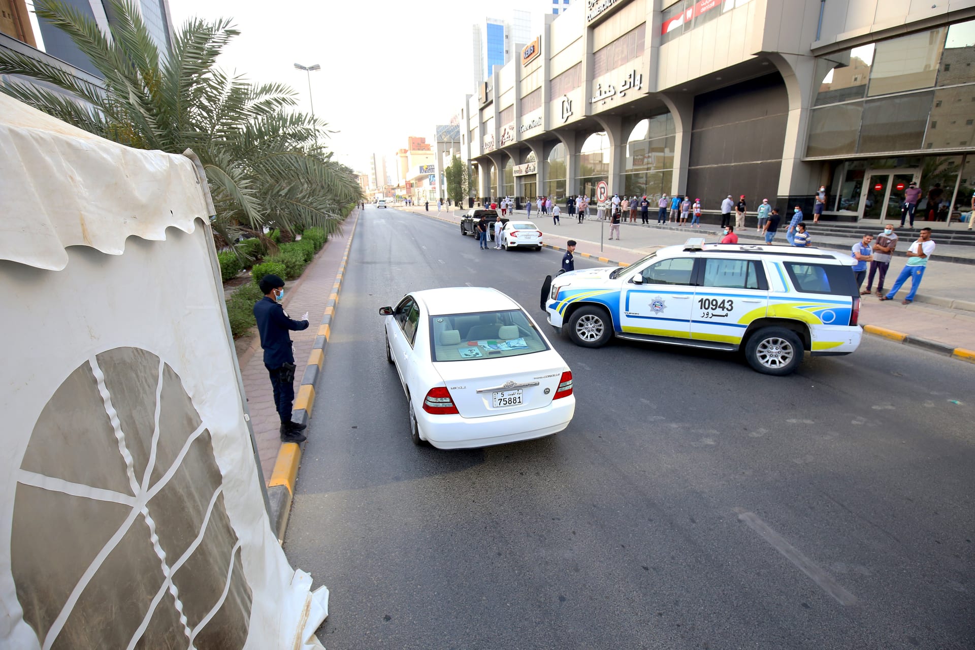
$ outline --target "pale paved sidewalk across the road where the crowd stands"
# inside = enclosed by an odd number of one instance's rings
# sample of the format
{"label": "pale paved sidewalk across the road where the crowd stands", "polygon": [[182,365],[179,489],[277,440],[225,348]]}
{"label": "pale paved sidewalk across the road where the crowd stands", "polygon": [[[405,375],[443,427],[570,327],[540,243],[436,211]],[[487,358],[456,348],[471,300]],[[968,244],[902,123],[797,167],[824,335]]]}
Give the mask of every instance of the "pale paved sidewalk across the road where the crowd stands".
{"label": "pale paved sidewalk across the road where the crowd stands", "polygon": [[[460,223],[460,216],[463,214],[463,211],[460,210],[456,212],[448,212],[447,210],[439,213],[436,210],[427,212],[422,207],[405,210],[458,224]],[[525,218],[525,213],[519,211],[516,216]],[[653,218],[655,219],[655,215]],[[538,215],[532,210],[531,221],[544,233],[544,240],[547,245],[565,249],[565,242],[574,239],[578,243],[577,255],[592,258],[602,257],[614,262],[634,262],[653,250],[683,244],[689,237],[705,237],[711,242],[717,240],[715,235],[709,236],[709,232],[715,231],[709,230],[706,225],[700,229],[669,230],[657,228],[653,225],[645,227],[638,222],[623,224],[620,234],[623,238],[622,242],[625,244],[617,244],[615,240],[611,242],[604,240],[601,249],[601,224],[595,219],[587,218],[580,224],[574,218],[563,217],[561,224],[556,226],[553,225],[551,216]],[[608,237],[609,225],[605,222],[603,225],[604,235]],[[784,243],[785,240],[783,239],[779,244]],[[964,249],[966,247],[953,248]],[[918,300],[914,304],[908,306],[901,304],[901,297],[907,294],[906,288],[901,289],[898,299],[888,302],[880,302],[875,296],[863,296],[860,324],[878,325],[953,347],[975,350],[975,311],[949,309],[934,304],[920,304],[919,302],[920,296],[924,295],[928,299],[941,298],[944,302],[940,304],[946,306],[953,300],[975,304],[975,266],[950,262],[939,263],[938,251],[940,250],[941,247],[935,251],[930,266],[924,272],[924,281],[917,294]],[[888,287],[892,286],[893,280],[897,278],[903,264],[903,259],[894,260],[892,269],[887,274]]]}

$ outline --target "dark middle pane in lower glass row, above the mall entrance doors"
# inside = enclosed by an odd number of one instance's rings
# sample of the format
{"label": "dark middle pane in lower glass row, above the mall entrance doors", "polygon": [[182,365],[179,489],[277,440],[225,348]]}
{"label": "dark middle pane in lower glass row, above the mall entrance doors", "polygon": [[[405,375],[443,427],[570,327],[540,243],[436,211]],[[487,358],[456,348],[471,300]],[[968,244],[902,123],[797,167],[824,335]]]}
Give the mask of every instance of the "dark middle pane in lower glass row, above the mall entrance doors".
{"label": "dark middle pane in lower glass row, above the mall entrance doors", "polygon": [[857,150],[876,153],[919,149],[933,98],[934,93],[927,92],[867,101]]}

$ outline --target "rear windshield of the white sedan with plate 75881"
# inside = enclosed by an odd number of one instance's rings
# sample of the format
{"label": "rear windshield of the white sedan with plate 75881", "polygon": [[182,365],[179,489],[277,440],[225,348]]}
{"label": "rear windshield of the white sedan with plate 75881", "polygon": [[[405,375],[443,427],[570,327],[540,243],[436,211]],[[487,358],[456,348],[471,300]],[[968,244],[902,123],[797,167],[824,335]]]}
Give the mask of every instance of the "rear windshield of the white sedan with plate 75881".
{"label": "rear windshield of the white sedan with plate 75881", "polygon": [[549,349],[525,312],[518,309],[431,316],[430,331],[435,362],[518,357]]}

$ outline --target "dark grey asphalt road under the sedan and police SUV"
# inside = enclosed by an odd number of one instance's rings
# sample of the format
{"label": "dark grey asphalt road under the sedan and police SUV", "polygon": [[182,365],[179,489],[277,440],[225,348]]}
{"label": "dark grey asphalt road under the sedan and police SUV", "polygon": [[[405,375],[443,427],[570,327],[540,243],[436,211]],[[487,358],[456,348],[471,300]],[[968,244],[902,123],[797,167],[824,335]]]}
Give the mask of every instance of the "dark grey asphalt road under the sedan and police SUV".
{"label": "dark grey asphalt road under the sedan and police SUV", "polygon": [[[870,337],[789,377],[579,348],[538,309],[558,266],[360,218],[285,541],[331,590],[330,650],[975,647],[975,366]],[[378,308],[468,283],[521,302],[571,366],[565,432],[409,441]]]}

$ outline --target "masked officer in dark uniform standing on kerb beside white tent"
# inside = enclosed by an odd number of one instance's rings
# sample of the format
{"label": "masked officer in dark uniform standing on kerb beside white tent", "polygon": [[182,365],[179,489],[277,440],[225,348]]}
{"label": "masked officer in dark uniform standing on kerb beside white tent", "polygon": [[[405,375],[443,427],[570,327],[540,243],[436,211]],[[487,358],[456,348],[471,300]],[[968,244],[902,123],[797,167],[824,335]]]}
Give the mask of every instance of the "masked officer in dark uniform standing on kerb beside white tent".
{"label": "masked officer in dark uniform standing on kerb beside white tent", "polygon": [[275,275],[266,275],[257,284],[264,297],[254,303],[254,319],[260,333],[260,347],[264,349],[264,367],[271,375],[274,388],[274,405],[281,418],[281,441],[301,442],[306,439],[301,431],[307,426],[292,422],[294,401],[294,349],[289,330],[308,328],[308,314],[300,321],[292,321],[285,313],[281,301],[285,297],[285,281]]}

